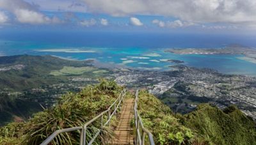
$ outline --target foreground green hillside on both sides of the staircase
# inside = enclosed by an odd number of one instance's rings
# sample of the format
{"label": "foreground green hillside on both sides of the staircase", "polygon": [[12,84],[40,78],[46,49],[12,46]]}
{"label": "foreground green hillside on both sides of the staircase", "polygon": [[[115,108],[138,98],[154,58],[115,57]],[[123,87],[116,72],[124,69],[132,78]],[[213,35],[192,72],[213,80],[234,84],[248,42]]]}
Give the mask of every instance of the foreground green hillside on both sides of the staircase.
{"label": "foreground green hillside on both sides of the staircase", "polygon": [[[122,87],[114,81],[102,80],[79,93],[63,95],[56,106],[36,113],[29,121],[1,127],[0,144],[39,144],[57,129],[81,126],[108,108],[121,91]],[[156,144],[256,144],[255,122],[235,106],[221,111],[209,104],[200,104],[191,113],[175,114],[157,97],[141,90],[138,110]],[[93,127],[99,127],[99,123]],[[93,132],[88,130],[89,138]],[[109,128],[102,128],[102,137],[111,134]],[[54,139],[55,143],[62,144],[78,141],[79,132]]]}

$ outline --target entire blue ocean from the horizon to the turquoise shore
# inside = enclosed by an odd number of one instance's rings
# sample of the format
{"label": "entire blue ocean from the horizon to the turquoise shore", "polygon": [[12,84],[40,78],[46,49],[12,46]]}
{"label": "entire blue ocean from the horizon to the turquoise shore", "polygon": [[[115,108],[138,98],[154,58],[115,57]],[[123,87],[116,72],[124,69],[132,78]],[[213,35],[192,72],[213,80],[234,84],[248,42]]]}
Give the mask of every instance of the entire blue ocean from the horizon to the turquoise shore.
{"label": "entire blue ocean from the horizon to the turquoise shore", "polygon": [[[253,41],[254,40],[254,41]],[[0,34],[0,55],[54,55],[135,69],[168,71],[184,61],[191,67],[207,67],[225,74],[256,76],[256,64],[242,55],[178,55],[168,48],[223,48],[238,43],[256,46],[252,36],[161,34],[132,32],[13,32]]]}

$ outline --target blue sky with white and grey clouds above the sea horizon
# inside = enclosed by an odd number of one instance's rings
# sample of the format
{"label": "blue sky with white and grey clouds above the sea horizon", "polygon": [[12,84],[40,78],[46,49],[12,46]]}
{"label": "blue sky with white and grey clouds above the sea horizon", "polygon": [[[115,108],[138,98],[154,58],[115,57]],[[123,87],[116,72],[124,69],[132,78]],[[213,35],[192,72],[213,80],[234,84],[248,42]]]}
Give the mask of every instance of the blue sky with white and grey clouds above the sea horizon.
{"label": "blue sky with white and grey clouds above the sea horizon", "polygon": [[255,0],[0,0],[0,32],[255,34]]}

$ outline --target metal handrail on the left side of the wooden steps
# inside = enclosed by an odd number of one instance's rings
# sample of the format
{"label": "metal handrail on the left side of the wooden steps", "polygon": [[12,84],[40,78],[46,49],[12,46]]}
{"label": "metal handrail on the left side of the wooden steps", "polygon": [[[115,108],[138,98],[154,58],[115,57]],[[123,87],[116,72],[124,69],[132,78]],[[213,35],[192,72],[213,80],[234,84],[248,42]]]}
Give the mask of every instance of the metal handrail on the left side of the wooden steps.
{"label": "metal handrail on the left side of the wooden steps", "polygon": [[[86,144],[86,130],[87,130],[88,125],[90,125],[91,123],[93,123],[95,120],[97,120],[99,118],[101,119],[100,120],[100,126],[101,127],[104,127],[106,125],[110,125],[111,118],[114,115],[116,115],[116,111],[118,109],[121,109],[121,103],[124,100],[125,93],[126,93],[126,90],[125,89],[122,90],[122,92],[120,93],[118,98],[115,100],[115,102],[113,102],[113,104],[111,104],[111,106],[109,106],[106,111],[103,111],[102,113],[97,115],[92,120],[86,122],[82,127],[72,127],[72,128],[65,128],[65,129],[56,130],[47,139],[45,139],[45,141],[42,142],[40,145],[49,144],[52,141],[52,139],[54,139],[54,137],[56,137],[58,134],[63,134],[63,133],[66,133],[66,132],[73,132],[73,131],[76,131],[76,130],[81,130],[80,145],[85,145]],[[114,107],[114,111],[111,113],[111,109],[113,109],[113,107]],[[108,113],[108,120],[105,123],[103,123],[103,115],[106,114],[106,113]],[[98,132],[92,137],[92,140],[89,141],[88,145],[92,144],[95,141],[95,139],[97,139],[97,136],[99,134],[100,134],[100,130],[98,129]]]}

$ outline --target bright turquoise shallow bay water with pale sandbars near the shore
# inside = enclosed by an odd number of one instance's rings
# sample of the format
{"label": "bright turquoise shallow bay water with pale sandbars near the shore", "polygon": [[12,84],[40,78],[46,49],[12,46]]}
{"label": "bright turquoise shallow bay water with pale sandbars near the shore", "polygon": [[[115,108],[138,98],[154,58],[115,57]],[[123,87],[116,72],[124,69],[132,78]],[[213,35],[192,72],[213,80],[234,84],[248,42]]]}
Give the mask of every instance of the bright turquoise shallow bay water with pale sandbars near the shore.
{"label": "bright turquoise shallow bay water with pale sandbars near the shore", "polygon": [[241,55],[177,55],[164,52],[166,48],[143,47],[90,47],[47,45],[29,41],[0,41],[0,55],[54,55],[65,59],[86,60],[118,64],[137,69],[168,71],[166,59],[184,61],[184,65],[207,67],[226,74],[246,74],[256,76],[256,64],[237,59]]}

